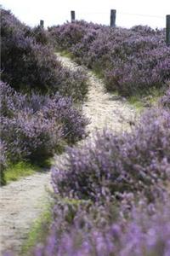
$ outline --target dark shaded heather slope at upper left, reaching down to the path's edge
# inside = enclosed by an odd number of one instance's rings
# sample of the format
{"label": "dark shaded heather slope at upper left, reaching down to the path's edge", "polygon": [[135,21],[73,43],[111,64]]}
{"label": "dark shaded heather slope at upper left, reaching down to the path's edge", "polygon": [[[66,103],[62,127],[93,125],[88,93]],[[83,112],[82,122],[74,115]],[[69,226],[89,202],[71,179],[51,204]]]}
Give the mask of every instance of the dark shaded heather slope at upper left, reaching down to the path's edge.
{"label": "dark shaded heather slope at upper left, reaching down to the path's edge", "polygon": [[72,96],[82,101],[88,91],[82,71],[62,67],[48,45],[48,32],[20,23],[10,12],[2,10],[2,79],[16,90],[38,90]]}

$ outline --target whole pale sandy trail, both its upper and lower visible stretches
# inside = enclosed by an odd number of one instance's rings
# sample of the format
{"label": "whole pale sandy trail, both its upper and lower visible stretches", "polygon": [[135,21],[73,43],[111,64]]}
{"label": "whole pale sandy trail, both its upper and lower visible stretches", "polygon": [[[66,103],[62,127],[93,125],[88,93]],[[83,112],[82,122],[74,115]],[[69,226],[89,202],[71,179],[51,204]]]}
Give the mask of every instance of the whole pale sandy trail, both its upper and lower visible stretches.
{"label": "whole pale sandy trail, both its upper and lower visible stretches", "polygon": [[[70,59],[60,55],[58,58],[65,67],[74,70],[78,68]],[[96,129],[101,130],[105,126],[113,131],[127,130],[129,121],[135,118],[135,110],[122,97],[105,92],[102,80],[97,79],[92,72],[87,72],[88,100],[82,106],[82,111],[91,120],[87,127],[89,136],[93,136]],[[51,189],[49,172],[38,173],[0,188],[1,251],[12,249],[14,255],[19,255],[31,224],[43,212],[43,206],[49,199],[48,189]]]}

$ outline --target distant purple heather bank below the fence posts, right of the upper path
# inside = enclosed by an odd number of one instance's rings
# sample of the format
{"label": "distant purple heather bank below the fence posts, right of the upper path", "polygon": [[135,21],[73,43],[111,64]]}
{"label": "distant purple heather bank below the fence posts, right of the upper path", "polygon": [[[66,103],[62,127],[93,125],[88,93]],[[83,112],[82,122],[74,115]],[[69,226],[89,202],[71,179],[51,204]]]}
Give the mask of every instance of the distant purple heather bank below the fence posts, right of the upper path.
{"label": "distant purple heather bank below the fence posts, right of the upper path", "polygon": [[70,50],[78,63],[104,77],[107,90],[131,96],[160,88],[170,79],[170,50],[164,30],[149,26],[112,29],[77,21],[50,32],[58,48]]}

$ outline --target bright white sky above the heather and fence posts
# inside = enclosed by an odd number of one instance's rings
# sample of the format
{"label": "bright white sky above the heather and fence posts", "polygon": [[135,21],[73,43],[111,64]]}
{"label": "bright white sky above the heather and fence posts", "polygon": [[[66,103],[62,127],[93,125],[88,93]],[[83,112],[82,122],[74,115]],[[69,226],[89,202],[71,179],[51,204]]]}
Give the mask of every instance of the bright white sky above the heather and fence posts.
{"label": "bright white sky above the heather and fence posts", "polygon": [[116,26],[148,25],[163,28],[170,15],[170,0],[1,0],[5,9],[29,26],[44,20],[45,26],[71,20],[75,10],[77,20],[110,24],[111,9],[116,9]]}

